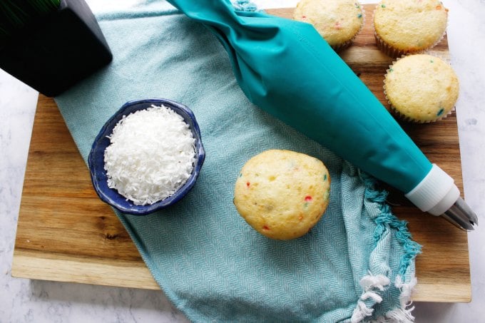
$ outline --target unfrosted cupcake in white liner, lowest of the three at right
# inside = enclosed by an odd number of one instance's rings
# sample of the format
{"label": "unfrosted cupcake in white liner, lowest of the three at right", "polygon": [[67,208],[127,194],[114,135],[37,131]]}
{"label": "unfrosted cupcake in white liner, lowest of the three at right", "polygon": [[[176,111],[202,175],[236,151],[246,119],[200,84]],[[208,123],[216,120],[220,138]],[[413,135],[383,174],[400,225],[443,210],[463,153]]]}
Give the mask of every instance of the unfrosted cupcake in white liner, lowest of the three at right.
{"label": "unfrosted cupcake in white liner, lowest of the three at right", "polygon": [[391,108],[407,121],[426,123],[449,114],[458,99],[459,83],[448,63],[417,54],[395,62],[384,78]]}

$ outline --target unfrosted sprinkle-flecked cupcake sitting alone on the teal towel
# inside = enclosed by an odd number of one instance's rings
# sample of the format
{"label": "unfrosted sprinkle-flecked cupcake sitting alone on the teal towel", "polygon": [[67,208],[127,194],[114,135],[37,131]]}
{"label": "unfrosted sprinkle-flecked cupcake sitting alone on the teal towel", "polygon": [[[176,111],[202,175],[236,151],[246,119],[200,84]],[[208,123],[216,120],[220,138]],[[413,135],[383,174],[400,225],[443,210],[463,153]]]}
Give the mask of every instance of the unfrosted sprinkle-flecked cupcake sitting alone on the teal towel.
{"label": "unfrosted sprinkle-flecked cupcake sitting alone on the teal towel", "polygon": [[301,237],[327,209],[330,174],[321,160],[290,150],[266,150],[242,167],[234,204],[257,232],[277,240]]}

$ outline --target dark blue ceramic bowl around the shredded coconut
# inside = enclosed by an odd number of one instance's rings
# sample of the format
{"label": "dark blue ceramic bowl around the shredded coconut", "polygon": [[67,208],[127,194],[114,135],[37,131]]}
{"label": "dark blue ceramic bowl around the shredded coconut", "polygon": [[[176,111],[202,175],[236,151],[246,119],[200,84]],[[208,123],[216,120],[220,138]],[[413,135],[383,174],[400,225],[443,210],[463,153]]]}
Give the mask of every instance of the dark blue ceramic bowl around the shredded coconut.
{"label": "dark blue ceramic bowl around the shredded coconut", "polygon": [[[128,116],[130,113],[149,108],[152,105],[161,106],[162,104],[182,116],[183,120],[189,125],[190,130],[192,130],[195,138],[195,153],[197,154],[195,165],[190,178],[188,178],[187,182],[185,182],[185,184],[173,195],[151,205],[135,205],[131,200],[126,200],[126,198],[119,194],[117,190],[108,188],[108,177],[106,176],[106,170],[104,169],[104,151],[106,150],[106,147],[110,145],[110,140],[107,136],[111,135],[113,128],[123,116]],[[200,140],[199,125],[195,120],[193,112],[186,106],[170,100],[148,99],[125,103],[118,112],[106,121],[91,147],[91,152],[88,156],[88,165],[94,190],[96,190],[96,193],[103,202],[108,203],[123,213],[131,215],[147,215],[156,210],[161,210],[164,207],[173,205],[175,202],[178,202],[183,198],[188,191],[193,188],[195,180],[197,180],[200,173],[200,168],[202,168],[204,163],[204,159],[205,150],[202,145],[202,140]]]}

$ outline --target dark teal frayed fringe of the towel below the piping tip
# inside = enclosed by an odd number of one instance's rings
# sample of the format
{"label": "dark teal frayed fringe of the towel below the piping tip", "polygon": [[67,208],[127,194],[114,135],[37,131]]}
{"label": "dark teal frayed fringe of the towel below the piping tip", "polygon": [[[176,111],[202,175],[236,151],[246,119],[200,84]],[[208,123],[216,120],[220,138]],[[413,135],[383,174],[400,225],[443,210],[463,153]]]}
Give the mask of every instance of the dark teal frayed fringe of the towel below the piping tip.
{"label": "dark teal frayed fringe of the towel below the piping tip", "polygon": [[377,180],[370,175],[360,173],[360,177],[365,185],[365,198],[372,202],[377,202],[379,204],[379,209],[381,210],[379,216],[375,219],[377,227],[374,231],[374,242],[377,244],[382,235],[384,235],[384,232],[389,230],[389,228],[396,230],[395,236],[397,241],[404,247],[404,255],[402,255],[399,265],[399,275],[404,276],[407,268],[411,265],[411,262],[421,253],[421,245],[412,240],[412,235],[409,230],[407,230],[407,221],[399,220],[392,214],[391,207],[386,203],[388,195],[387,191],[377,190]]}

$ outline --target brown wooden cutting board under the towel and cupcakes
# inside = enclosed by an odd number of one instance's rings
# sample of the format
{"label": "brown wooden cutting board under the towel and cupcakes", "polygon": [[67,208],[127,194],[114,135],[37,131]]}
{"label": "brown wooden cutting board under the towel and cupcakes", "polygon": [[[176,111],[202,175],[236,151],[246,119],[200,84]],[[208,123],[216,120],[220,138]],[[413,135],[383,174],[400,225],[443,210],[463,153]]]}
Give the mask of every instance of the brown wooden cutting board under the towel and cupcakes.
{"label": "brown wooden cutting board under the towel and cupcakes", "polygon": [[[364,29],[341,56],[387,106],[382,80],[392,59],[374,45],[373,6],[365,9]],[[292,16],[292,9],[268,12]],[[448,56],[446,38],[434,49]],[[463,191],[454,113],[436,123],[403,123],[403,127]],[[414,240],[423,246],[416,261],[414,300],[469,302],[466,232],[441,217],[420,212],[394,190],[390,190],[388,202],[399,218],[409,221]],[[94,193],[86,164],[56,103],[45,96],[39,96],[34,120],[11,272],[14,277],[37,280],[159,288],[121,222]]]}

